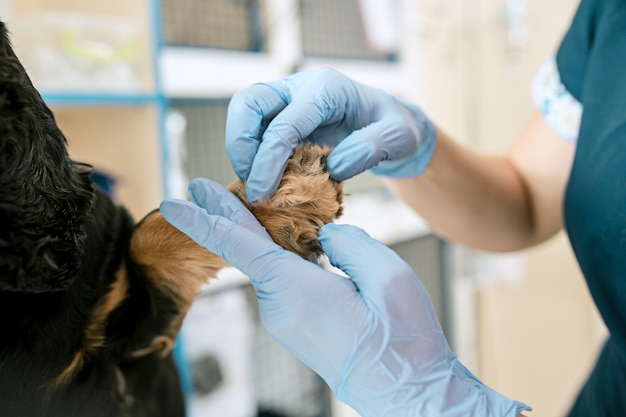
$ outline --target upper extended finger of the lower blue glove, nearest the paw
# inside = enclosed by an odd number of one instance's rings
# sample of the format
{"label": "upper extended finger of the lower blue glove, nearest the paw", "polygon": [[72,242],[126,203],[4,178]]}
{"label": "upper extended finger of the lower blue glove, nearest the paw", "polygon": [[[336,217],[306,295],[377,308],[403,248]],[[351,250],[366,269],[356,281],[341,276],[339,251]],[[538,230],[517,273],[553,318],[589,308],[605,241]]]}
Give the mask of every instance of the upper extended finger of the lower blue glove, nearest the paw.
{"label": "upper extended finger of the lower blue glove, nearest the paw", "polygon": [[221,184],[196,178],[189,184],[192,201],[208,214],[216,214],[270,238],[265,228],[233,193]]}

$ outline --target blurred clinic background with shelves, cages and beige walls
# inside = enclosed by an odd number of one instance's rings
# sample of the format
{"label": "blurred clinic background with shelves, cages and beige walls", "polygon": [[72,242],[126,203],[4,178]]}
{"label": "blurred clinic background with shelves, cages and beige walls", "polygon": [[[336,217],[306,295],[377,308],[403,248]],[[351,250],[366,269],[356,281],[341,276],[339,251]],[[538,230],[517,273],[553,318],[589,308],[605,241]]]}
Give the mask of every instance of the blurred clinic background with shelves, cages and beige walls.
{"label": "blurred clinic background with shelves, cages and beige walls", "polygon": [[[506,149],[529,117],[530,80],[576,0],[0,0],[17,53],[75,159],[139,219],[198,176],[234,179],[230,96],[332,66],[419,103],[453,137]],[[347,182],[341,222],[396,250],[425,282],[461,360],[487,384],[558,416],[604,329],[564,236],[522,253],[451,245],[372,176]],[[227,270],[177,345],[189,416],[348,417],[259,324]]]}

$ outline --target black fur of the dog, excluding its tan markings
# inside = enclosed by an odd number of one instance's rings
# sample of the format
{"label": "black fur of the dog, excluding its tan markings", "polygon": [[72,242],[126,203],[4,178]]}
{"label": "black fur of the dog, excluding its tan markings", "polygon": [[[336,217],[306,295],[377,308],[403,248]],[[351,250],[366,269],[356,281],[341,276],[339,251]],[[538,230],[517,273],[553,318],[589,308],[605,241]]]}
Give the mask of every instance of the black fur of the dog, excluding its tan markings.
{"label": "black fur of the dog, excluding its tan markings", "polygon": [[[172,356],[133,355],[167,331],[178,304],[130,258],[135,223],[90,172],[70,159],[0,22],[0,416],[183,416]],[[85,350],[120,269],[123,301]]]}

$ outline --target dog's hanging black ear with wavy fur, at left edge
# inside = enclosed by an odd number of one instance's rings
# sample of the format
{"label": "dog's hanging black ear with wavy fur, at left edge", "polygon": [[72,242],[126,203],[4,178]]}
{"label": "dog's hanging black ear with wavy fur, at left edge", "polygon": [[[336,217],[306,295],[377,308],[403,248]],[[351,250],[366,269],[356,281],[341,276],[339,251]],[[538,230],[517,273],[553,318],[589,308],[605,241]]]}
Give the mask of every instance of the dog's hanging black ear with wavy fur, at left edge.
{"label": "dog's hanging black ear with wavy fur, at left edge", "polygon": [[89,174],[69,158],[0,22],[0,290],[70,285],[94,200]]}

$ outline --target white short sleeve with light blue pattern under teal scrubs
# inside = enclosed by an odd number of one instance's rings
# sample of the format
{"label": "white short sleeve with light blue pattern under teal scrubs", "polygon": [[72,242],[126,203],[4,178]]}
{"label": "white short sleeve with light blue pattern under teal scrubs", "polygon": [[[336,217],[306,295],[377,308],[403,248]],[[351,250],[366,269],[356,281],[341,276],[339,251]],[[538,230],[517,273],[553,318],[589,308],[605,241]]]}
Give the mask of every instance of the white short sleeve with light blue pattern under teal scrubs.
{"label": "white short sleeve with light blue pattern under teal scrubs", "polygon": [[583,108],[561,82],[554,58],[547,60],[535,75],[532,96],[548,126],[565,140],[575,143]]}

